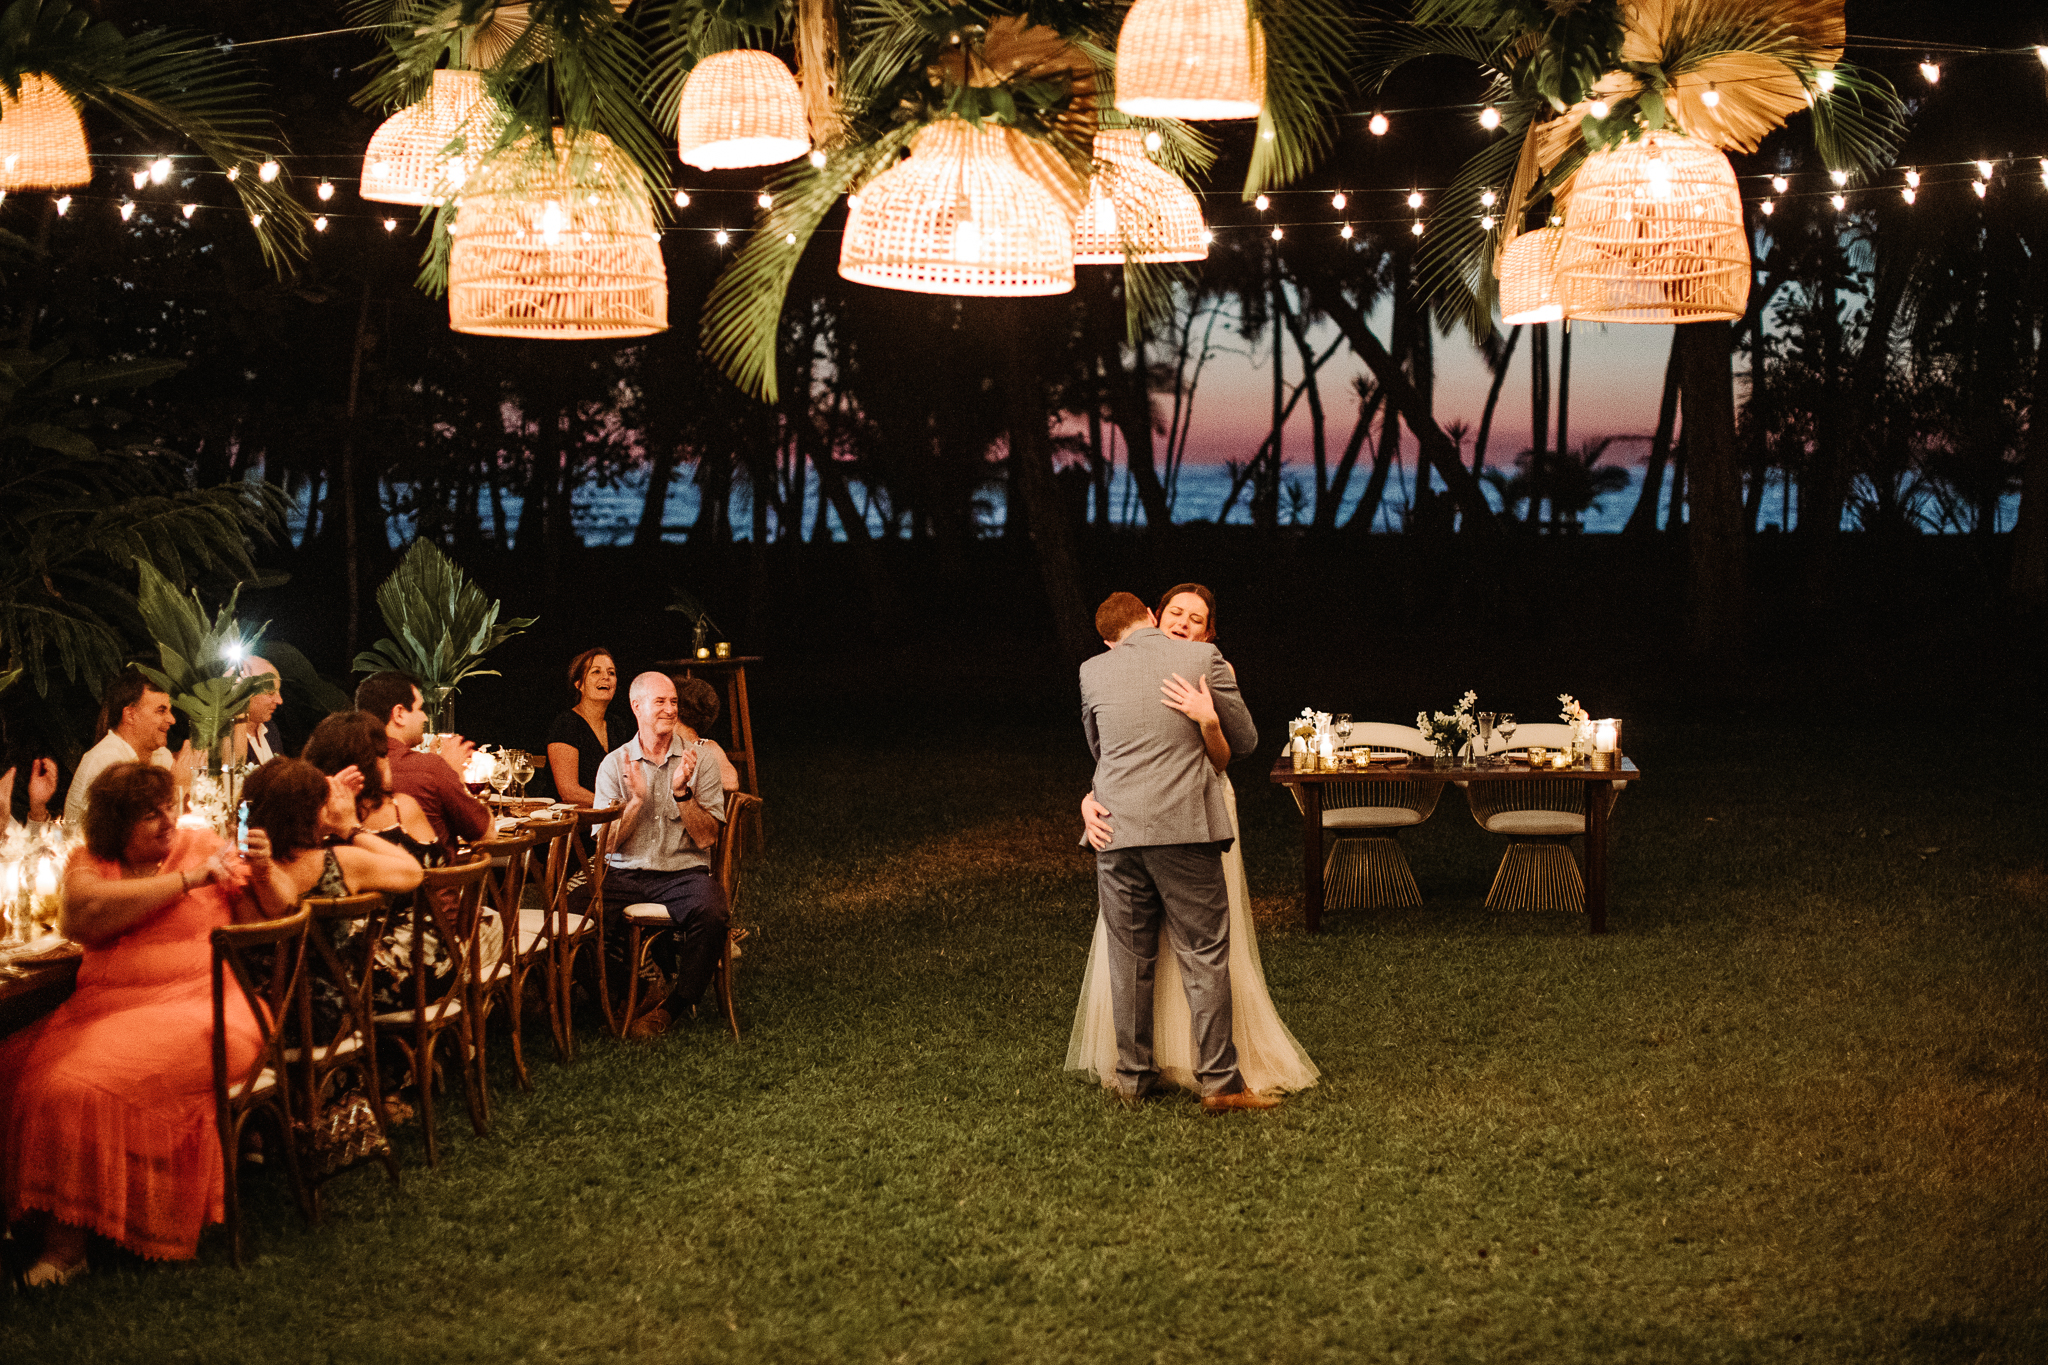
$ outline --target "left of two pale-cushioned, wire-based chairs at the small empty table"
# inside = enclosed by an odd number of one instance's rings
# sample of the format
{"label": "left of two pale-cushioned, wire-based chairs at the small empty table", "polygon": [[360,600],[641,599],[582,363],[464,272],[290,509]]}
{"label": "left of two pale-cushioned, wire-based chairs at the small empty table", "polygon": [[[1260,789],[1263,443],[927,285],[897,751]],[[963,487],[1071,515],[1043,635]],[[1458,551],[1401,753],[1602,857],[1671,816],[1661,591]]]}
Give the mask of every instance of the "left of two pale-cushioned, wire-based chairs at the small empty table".
{"label": "left of two pale-cushioned, wire-based chairs at the small empty table", "polygon": [[[1370,747],[1374,755],[1411,755],[1421,761],[1436,745],[1411,724],[1366,720],[1354,724],[1346,743]],[[1300,808],[1300,788],[1288,786]],[[1421,905],[1421,888],[1409,870],[1401,831],[1436,812],[1444,794],[1440,782],[1325,782],[1323,784],[1323,905],[1366,909]]]}

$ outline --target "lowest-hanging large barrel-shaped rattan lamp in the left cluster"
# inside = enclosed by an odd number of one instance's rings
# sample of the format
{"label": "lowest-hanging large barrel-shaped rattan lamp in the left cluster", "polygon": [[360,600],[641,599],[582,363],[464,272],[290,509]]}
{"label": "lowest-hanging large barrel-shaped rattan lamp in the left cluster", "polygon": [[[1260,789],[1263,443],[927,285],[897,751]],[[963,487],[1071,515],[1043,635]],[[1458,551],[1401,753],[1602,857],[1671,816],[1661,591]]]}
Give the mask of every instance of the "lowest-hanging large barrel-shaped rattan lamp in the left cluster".
{"label": "lowest-hanging large barrel-shaped rattan lamp in the left cluster", "polygon": [[668,329],[668,270],[645,182],[600,133],[532,137],[471,176],[449,229],[449,325],[580,342]]}

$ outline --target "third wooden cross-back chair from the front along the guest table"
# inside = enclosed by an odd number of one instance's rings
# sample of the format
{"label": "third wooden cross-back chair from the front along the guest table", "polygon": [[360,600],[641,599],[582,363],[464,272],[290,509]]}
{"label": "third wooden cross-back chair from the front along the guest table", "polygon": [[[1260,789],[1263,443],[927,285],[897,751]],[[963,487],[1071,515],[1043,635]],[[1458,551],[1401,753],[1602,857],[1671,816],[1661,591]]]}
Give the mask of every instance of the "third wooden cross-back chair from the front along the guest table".
{"label": "third wooden cross-back chair from the front along the guest table", "polygon": [[[412,905],[395,917],[397,927],[410,931],[410,970],[406,974],[406,999],[410,1005],[377,1015],[377,1031],[397,1044],[410,1070],[406,1083],[418,1093],[420,1128],[426,1134],[426,1164],[440,1164],[440,1136],[434,1124],[434,1076],[440,1072],[436,1048],[444,1036],[455,1036],[457,1056],[463,1072],[463,1099],[469,1103],[469,1126],[481,1138],[489,1132],[489,1113],[481,1095],[483,1056],[471,1031],[471,1011],[467,1009],[467,980],[475,970],[477,937],[483,923],[483,878],[489,876],[492,855],[477,851],[469,862],[453,868],[428,868],[420,880],[420,890],[412,894]],[[449,956],[446,978],[428,970],[426,954],[420,945],[426,933],[440,937]],[[432,997],[440,982],[446,988]]]}

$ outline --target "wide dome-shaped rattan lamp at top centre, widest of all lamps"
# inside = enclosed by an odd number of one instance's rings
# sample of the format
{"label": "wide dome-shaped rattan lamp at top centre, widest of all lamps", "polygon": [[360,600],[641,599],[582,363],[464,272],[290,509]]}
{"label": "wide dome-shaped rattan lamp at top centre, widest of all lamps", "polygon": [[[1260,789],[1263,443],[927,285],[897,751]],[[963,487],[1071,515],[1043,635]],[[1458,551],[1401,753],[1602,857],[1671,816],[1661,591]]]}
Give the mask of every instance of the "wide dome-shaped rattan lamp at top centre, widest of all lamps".
{"label": "wide dome-shaped rattan lamp at top centre, widest of all lamps", "polygon": [[1073,219],[987,123],[940,119],[852,201],[840,274],[920,295],[1063,295]]}

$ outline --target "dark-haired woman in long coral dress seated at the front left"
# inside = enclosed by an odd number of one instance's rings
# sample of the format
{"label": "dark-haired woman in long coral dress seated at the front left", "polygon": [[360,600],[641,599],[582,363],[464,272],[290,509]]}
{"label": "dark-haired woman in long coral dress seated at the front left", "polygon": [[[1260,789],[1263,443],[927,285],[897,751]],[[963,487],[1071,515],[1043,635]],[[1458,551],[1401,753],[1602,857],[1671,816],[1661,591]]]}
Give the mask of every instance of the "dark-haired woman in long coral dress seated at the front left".
{"label": "dark-haired woman in long coral dress seated at the front left", "polygon": [[[209,935],[246,872],[211,831],[178,829],[172,802],[150,763],[92,784],[59,919],[86,948],[78,990],[0,1044],[0,1195],[8,1220],[47,1222],[31,1285],[80,1275],[88,1232],[176,1261],[221,1222]],[[227,1033],[227,1066],[248,1066],[260,1036],[240,995]]]}

